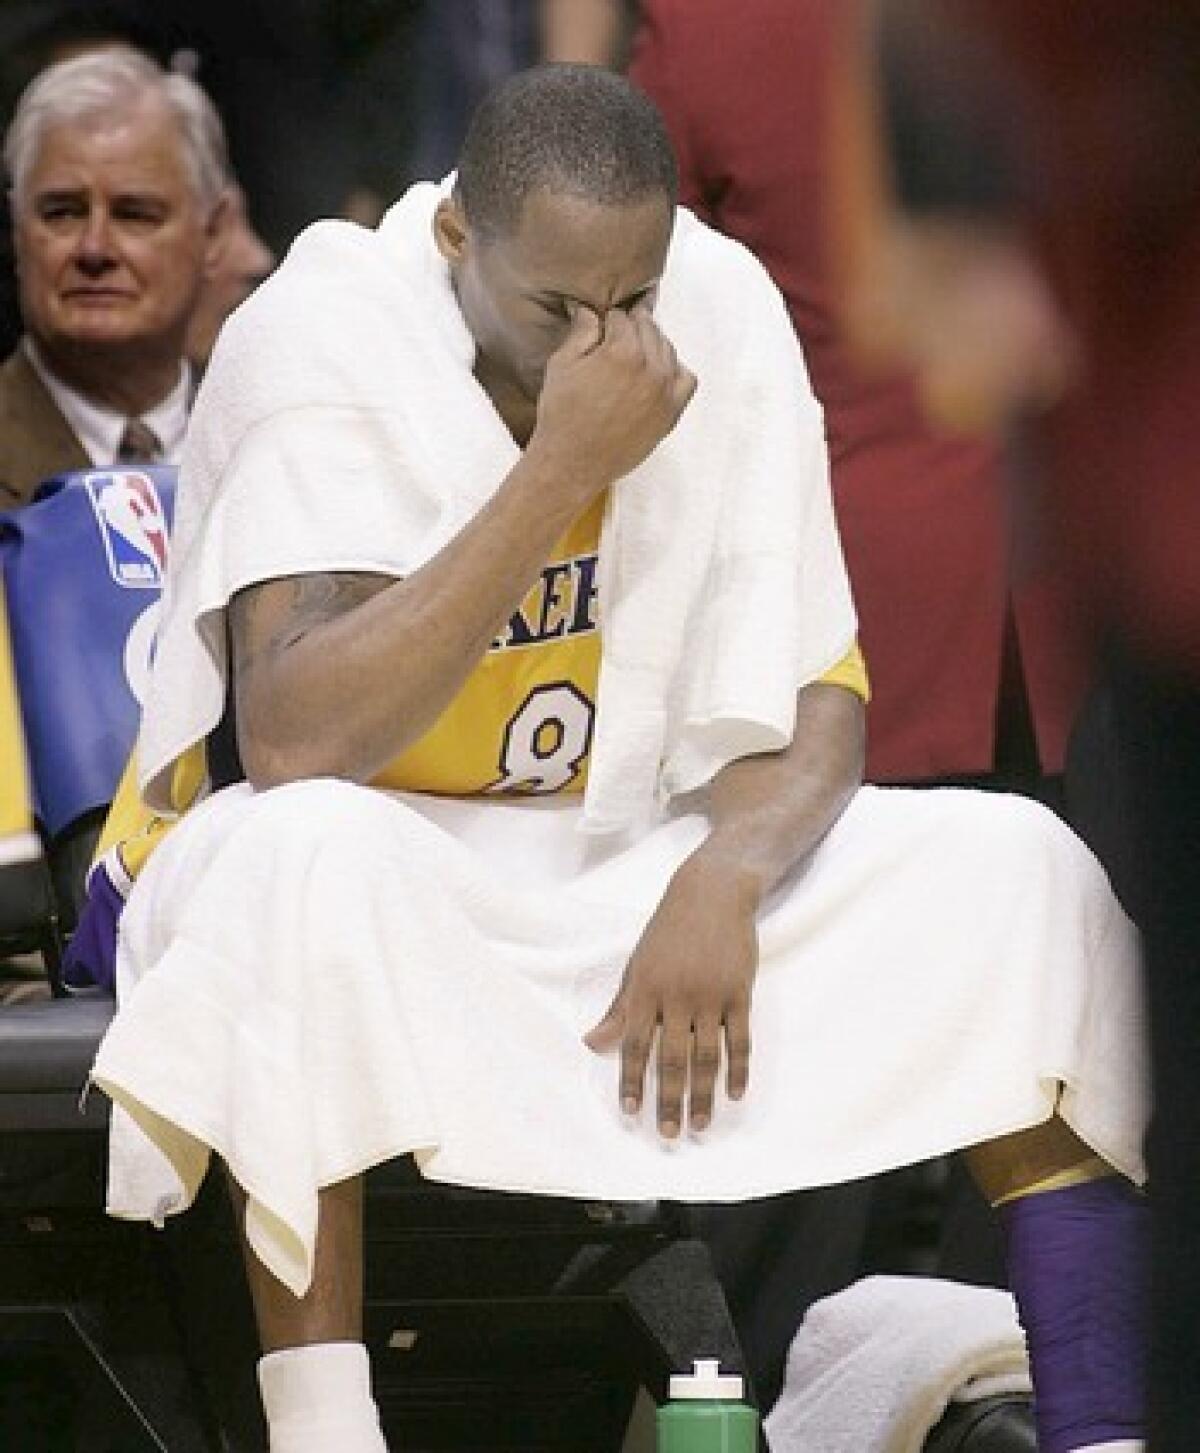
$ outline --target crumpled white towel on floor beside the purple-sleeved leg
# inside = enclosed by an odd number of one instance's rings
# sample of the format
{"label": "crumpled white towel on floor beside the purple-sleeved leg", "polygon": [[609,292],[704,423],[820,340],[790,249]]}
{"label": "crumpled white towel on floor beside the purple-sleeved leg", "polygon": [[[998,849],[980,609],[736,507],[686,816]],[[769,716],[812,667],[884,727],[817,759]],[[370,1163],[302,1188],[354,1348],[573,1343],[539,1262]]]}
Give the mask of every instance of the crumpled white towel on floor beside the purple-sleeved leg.
{"label": "crumpled white towel on floor beside the purple-sleeved leg", "polygon": [[1030,1386],[1008,1292],[872,1276],[809,1308],[764,1428],[771,1453],[920,1453],[952,1399]]}

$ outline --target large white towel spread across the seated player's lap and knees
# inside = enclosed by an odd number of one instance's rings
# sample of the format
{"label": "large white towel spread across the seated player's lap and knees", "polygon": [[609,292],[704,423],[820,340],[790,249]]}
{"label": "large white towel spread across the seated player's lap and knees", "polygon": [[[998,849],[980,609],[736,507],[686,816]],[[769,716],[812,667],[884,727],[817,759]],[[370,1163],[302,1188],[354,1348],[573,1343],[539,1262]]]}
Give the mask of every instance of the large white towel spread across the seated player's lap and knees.
{"label": "large white towel spread across the seated player's lap and knees", "polygon": [[259,1254],[302,1289],[317,1190],[405,1151],[471,1186],[738,1200],[927,1159],[1059,1101],[1142,1177],[1132,927],[1045,808],[860,790],[763,915],[748,1096],[673,1146],[652,1084],[622,1116],[616,1055],[583,1035],[703,818],[616,841],[577,815],[327,780],[193,809],[125,910],[94,1080],[141,1128],[115,1114],[110,1209],[183,1209],[214,1148],[250,1191]]}

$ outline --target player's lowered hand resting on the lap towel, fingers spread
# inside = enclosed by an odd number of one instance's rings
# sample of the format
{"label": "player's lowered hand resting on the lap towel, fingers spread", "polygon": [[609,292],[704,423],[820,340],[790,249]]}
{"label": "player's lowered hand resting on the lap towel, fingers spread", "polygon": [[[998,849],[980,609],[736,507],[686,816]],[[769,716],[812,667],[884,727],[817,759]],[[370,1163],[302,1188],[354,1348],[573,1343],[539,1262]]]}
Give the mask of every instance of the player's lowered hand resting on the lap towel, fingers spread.
{"label": "player's lowered hand resting on the lap towel, fingers spread", "polygon": [[604,1017],[585,1036],[620,1048],[620,1104],[636,1113],[655,1056],[658,1130],[709,1125],[722,1059],[737,1100],[750,1075],[750,998],[758,968],[754,905],[699,859],[671,879],[625,969]]}

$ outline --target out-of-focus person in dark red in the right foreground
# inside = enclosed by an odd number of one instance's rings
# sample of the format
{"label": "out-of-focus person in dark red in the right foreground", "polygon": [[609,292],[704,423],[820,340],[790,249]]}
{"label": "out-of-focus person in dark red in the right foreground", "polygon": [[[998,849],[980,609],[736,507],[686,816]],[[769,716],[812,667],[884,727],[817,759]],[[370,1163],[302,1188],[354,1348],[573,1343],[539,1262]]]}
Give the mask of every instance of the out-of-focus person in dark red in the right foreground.
{"label": "out-of-focus person in dark red in the right foreground", "polygon": [[[847,325],[863,357],[915,363],[943,423],[986,421],[1023,440],[1011,487],[1036,495],[1055,530],[1104,667],[1077,782],[1087,835],[1143,937],[1151,1447],[1190,1453],[1200,1428],[1200,4],[883,0],[847,39],[837,215]],[[923,160],[968,134],[982,141],[981,167],[1005,177],[986,206],[968,205]]]}

